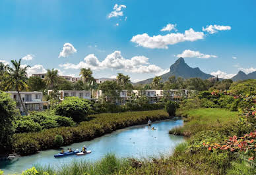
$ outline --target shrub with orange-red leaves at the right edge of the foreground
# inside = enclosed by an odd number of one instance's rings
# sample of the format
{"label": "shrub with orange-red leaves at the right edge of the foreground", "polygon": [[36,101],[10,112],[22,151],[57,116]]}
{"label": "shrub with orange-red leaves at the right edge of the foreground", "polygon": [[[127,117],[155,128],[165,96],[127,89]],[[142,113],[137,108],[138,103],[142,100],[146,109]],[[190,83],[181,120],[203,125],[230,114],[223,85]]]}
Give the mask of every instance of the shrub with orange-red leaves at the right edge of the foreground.
{"label": "shrub with orange-red leaves at the right edge of the foreground", "polygon": [[249,161],[255,159],[256,153],[256,130],[255,132],[251,132],[250,134],[245,134],[243,137],[229,137],[228,140],[224,141],[224,143],[203,143],[205,147],[207,147],[208,151],[212,151],[214,149],[227,150],[231,152],[245,152],[249,155]]}

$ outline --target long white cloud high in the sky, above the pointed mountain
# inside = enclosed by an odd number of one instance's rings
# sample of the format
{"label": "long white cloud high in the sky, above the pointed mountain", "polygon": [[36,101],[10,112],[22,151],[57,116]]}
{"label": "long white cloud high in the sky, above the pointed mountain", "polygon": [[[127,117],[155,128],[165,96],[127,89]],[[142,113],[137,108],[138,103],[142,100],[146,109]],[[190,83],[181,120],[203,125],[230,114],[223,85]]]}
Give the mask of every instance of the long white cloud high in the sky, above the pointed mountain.
{"label": "long white cloud high in the sky, above the pointed mountain", "polygon": [[184,41],[197,41],[203,39],[205,34],[203,32],[195,32],[193,28],[185,30],[184,34],[171,33],[165,36],[148,36],[148,34],[141,34],[133,36],[131,41],[137,43],[139,46],[147,47],[150,49],[161,48],[168,49],[168,45],[174,45],[176,43]]}

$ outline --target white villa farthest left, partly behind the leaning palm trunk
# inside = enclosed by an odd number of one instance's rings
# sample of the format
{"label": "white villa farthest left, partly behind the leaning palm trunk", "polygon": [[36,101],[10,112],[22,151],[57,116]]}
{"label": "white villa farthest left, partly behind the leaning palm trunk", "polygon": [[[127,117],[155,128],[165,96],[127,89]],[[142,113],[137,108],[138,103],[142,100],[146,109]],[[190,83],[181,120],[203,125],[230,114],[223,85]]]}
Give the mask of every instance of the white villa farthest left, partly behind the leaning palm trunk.
{"label": "white villa farthest left, partly behind the leaning palm trunk", "polygon": [[[9,93],[11,98],[17,101],[17,107],[20,111],[25,112],[21,105],[20,98],[18,97],[18,92],[7,91],[6,93]],[[20,97],[24,103],[26,111],[43,111],[44,104],[48,106],[48,101],[42,100],[43,93],[41,91],[20,91]]]}

